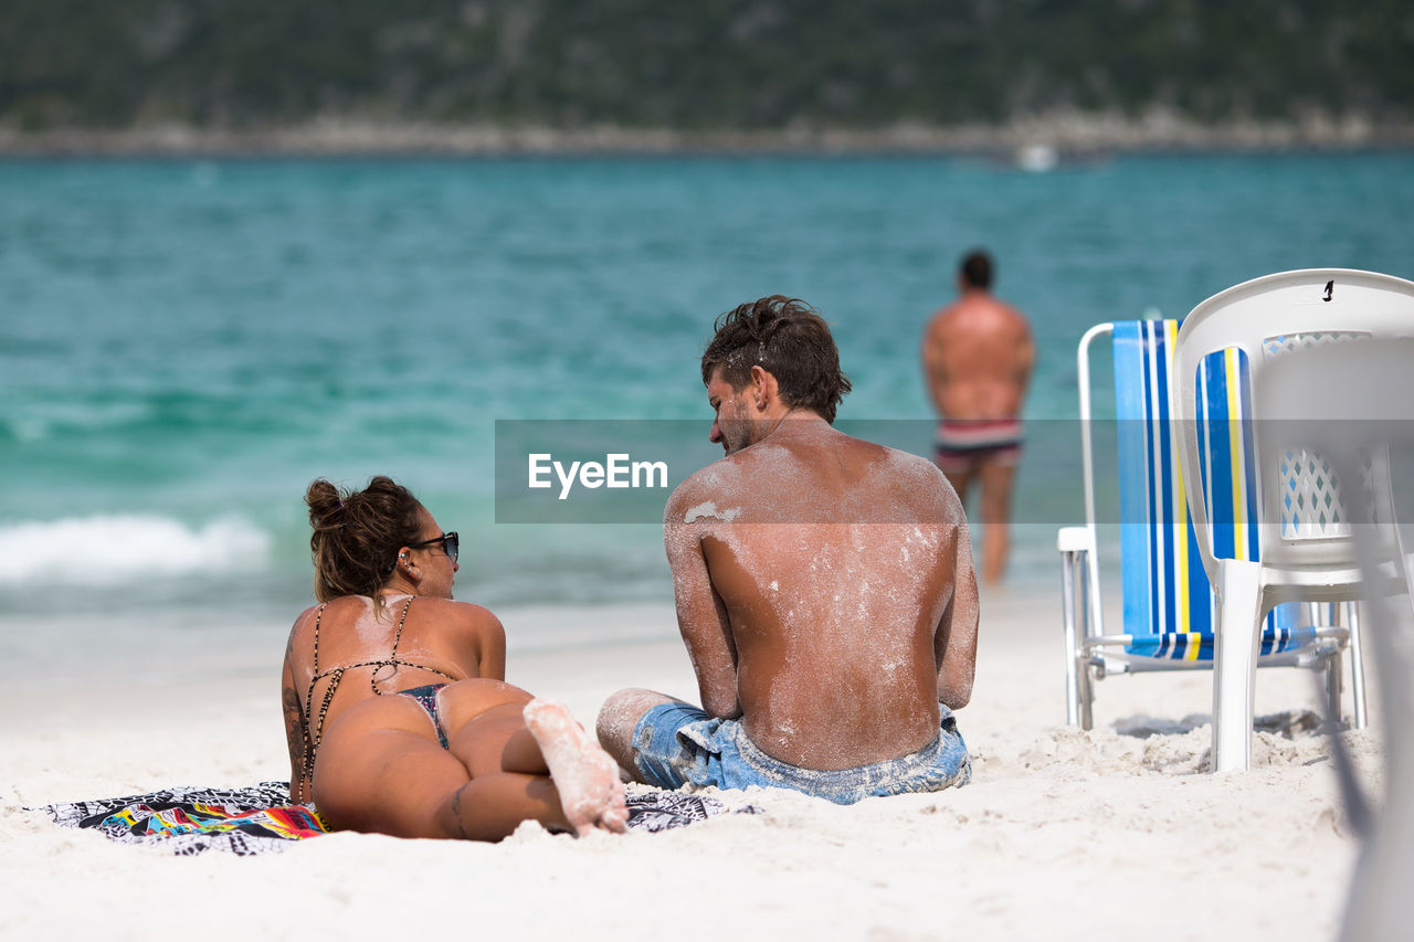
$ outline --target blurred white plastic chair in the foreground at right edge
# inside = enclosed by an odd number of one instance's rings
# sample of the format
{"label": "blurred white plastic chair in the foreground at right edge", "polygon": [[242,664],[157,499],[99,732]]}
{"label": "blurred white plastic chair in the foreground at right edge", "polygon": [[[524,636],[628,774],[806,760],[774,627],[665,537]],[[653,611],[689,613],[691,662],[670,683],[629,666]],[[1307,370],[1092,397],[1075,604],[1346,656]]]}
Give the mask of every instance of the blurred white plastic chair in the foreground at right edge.
{"label": "blurred white plastic chair in the foreground at right edge", "polygon": [[1384,741],[1379,812],[1339,740],[1332,743],[1346,818],[1362,840],[1340,938],[1403,939],[1414,873],[1414,744],[1407,735],[1414,723],[1414,339],[1356,339],[1284,356],[1256,383],[1253,399],[1274,448],[1325,454],[1339,479],[1360,485],[1346,495],[1356,560],[1372,590],[1406,593],[1370,591],[1366,605]]}

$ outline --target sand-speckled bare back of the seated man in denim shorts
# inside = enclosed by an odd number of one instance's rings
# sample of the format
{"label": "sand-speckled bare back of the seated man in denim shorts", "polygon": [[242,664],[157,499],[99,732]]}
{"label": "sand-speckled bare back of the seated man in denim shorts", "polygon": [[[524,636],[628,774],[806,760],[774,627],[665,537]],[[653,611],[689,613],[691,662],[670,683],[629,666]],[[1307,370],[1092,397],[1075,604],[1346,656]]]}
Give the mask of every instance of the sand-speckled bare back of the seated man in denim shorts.
{"label": "sand-speckled bare back of the seated man in denim shorts", "polygon": [[[966,521],[928,461],[789,419],[689,478],[665,532],[674,578],[711,574],[737,651],[735,672],[700,678],[704,702],[771,755],[814,769],[898,758],[937,735],[939,697],[967,703],[970,658],[937,669],[959,552],[970,569]],[[679,601],[680,622],[703,625],[687,638],[703,663],[720,620]]]}

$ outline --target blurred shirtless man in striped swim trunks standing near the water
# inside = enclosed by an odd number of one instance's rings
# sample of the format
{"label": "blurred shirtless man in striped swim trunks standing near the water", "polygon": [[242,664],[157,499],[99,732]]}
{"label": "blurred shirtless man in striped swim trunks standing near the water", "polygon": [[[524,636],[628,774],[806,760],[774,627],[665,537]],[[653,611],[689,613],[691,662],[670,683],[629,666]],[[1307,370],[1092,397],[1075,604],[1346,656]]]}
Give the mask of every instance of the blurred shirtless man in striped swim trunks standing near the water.
{"label": "blurred shirtless man in striped swim trunks standing near the water", "polygon": [[981,482],[983,574],[1001,581],[1007,566],[1008,519],[1021,455],[1021,406],[1035,365],[1027,318],[991,291],[991,259],[963,259],[960,297],[929,321],[923,372],[942,416],[935,461],[966,502]]}

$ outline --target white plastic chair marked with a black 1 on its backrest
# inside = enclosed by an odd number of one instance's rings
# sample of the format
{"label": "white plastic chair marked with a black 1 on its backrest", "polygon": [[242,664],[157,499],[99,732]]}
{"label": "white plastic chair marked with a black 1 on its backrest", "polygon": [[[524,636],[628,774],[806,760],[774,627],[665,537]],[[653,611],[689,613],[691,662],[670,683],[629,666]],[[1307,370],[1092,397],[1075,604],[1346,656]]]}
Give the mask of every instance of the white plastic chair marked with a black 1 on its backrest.
{"label": "white plastic chair marked with a black 1 on its backrest", "polygon": [[[1263,434],[1254,403],[1250,420],[1227,434],[1250,436],[1256,455],[1260,516],[1258,559],[1217,556],[1213,533],[1223,525],[1223,494],[1202,475],[1202,460],[1225,443],[1199,378],[1203,358],[1229,351],[1230,372],[1261,382],[1267,365],[1309,347],[1359,338],[1414,335],[1414,283],[1373,272],[1307,269],[1244,281],[1208,298],[1184,320],[1175,352],[1174,413],[1182,438],[1182,474],[1203,569],[1217,595],[1213,666],[1213,769],[1241,771],[1251,761],[1257,625],[1280,603],[1332,603],[1365,597],[1349,512],[1329,460],[1311,450],[1284,450]],[[1309,382],[1321,383],[1319,376]],[[1336,390],[1331,390],[1336,395]],[[1216,525],[1216,526],[1215,526]],[[1352,631],[1352,636],[1355,631]],[[1359,653],[1356,652],[1357,658]]]}

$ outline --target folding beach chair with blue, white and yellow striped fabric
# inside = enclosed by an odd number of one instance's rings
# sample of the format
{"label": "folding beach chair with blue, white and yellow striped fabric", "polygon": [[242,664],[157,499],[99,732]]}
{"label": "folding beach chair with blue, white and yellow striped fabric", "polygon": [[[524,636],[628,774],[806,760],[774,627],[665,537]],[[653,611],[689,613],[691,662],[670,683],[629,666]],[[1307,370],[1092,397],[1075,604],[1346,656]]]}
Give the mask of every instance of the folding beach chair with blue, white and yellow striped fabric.
{"label": "folding beach chair with blue, white and yellow striped fabric", "polygon": [[[1118,543],[1124,631],[1106,634],[1100,594],[1094,457],[1090,414],[1090,347],[1113,337],[1116,450],[1118,453]],[[1182,443],[1172,420],[1176,321],[1099,324],[1080,339],[1080,434],[1086,526],[1060,530],[1066,634],[1066,720],[1090,728],[1093,682],[1107,673],[1210,669],[1215,600],[1189,518],[1179,465]],[[1244,423],[1246,364],[1240,351],[1203,362],[1205,412],[1213,444],[1203,454],[1203,487],[1220,553],[1256,559],[1257,484],[1250,423]],[[1236,392],[1233,392],[1236,390]],[[1325,614],[1328,610],[1321,610]],[[1307,621],[1316,607],[1305,612]],[[1301,624],[1302,608],[1285,604],[1266,618],[1263,666],[1318,666],[1339,697],[1340,649],[1346,629]],[[1331,621],[1331,618],[1324,618]]]}

